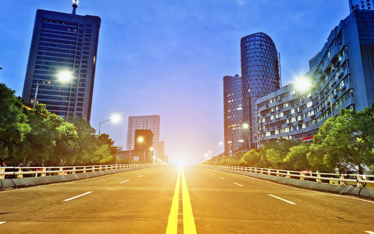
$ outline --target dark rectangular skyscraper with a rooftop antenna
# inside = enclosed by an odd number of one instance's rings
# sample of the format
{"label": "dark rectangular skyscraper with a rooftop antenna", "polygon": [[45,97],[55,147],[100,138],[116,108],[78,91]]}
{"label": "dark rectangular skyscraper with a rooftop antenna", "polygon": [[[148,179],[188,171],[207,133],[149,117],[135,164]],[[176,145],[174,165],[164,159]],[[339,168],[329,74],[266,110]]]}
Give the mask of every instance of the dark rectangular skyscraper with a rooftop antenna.
{"label": "dark rectangular skyscraper with a rooftop antenna", "polygon": [[[71,14],[36,11],[22,97],[33,104],[42,83],[37,103],[57,115],[81,115],[89,121],[101,19],[76,15],[76,7]],[[71,80],[54,79],[62,72],[71,74]]]}

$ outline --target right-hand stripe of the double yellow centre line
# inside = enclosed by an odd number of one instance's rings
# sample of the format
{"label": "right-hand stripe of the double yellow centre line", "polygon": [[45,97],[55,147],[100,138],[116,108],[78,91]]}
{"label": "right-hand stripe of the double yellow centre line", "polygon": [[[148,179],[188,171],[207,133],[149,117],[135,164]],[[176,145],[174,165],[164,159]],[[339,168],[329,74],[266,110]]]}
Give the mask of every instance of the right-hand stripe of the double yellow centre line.
{"label": "right-hand stripe of the double yellow centre line", "polygon": [[182,204],[183,204],[183,233],[197,234],[193,218],[190,195],[188,194],[186,178],[182,168]]}

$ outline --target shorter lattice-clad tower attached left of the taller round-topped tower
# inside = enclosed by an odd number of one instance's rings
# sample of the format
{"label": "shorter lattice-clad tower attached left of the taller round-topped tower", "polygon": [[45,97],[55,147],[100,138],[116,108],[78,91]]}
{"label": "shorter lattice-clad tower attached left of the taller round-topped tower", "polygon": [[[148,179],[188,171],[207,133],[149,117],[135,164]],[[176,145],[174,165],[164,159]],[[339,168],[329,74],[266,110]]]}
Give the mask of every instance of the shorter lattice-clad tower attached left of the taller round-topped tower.
{"label": "shorter lattice-clad tower attached left of the taller round-topped tower", "polygon": [[243,148],[243,86],[239,75],[223,77],[223,125],[225,153]]}

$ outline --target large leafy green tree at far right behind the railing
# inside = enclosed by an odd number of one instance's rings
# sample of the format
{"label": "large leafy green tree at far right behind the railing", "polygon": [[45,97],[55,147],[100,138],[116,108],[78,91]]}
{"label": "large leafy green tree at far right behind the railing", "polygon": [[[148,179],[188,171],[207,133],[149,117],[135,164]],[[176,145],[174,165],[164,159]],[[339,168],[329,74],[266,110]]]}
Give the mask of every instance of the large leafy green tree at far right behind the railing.
{"label": "large leafy green tree at far right behind the railing", "polygon": [[311,152],[314,162],[324,162],[339,171],[356,168],[364,173],[364,165],[374,162],[374,105],[364,111],[340,109],[337,117],[329,118],[313,137]]}

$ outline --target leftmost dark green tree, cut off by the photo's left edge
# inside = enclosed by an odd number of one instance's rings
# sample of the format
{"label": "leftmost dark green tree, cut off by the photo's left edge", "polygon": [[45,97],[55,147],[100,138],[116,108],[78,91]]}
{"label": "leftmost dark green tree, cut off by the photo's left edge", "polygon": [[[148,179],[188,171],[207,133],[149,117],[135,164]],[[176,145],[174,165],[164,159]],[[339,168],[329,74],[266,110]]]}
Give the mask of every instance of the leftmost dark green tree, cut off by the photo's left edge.
{"label": "leftmost dark green tree, cut off by the photo's left edge", "polygon": [[25,140],[31,131],[27,116],[23,113],[21,98],[15,91],[0,83],[0,166],[6,160],[19,161],[17,144]]}

